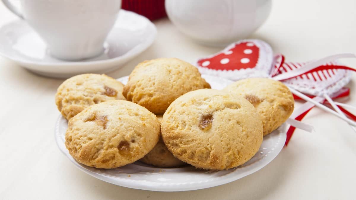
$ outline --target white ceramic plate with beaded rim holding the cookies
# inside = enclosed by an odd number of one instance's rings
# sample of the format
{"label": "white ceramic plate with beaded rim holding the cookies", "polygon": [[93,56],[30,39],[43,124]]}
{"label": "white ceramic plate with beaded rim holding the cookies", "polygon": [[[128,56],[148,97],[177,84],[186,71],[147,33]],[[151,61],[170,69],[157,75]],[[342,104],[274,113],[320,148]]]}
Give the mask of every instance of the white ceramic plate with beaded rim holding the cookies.
{"label": "white ceramic plate with beaded rim holding the cookies", "polygon": [[[231,81],[203,75],[211,88],[223,89]],[[118,79],[126,84],[127,77]],[[281,151],[286,141],[286,125],[263,138],[262,146],[255,156],[244,165],[222,171],[195,169],[192,166],[180,168],[157,168],[137,161],[116,169],[96,169],[78,163],[70,156],[64,144],[68,127],[67,120],[58,117],[54,134],[59,149],[83,172],[100,180],[128,188],[152,191],[186,191],[210,188],[240,179],[256,172],[271,162]]]}

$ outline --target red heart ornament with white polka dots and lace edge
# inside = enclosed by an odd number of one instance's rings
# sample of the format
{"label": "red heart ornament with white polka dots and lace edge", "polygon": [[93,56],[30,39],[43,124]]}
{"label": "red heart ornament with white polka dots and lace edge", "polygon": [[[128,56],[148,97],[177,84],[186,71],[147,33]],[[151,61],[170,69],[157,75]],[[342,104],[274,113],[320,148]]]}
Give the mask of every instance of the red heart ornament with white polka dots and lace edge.
{"label": "red heart ornament with white polka dots and lace edge", "polygon": [[241,40],[223,51],[196,62],[200,73],[231,80],[248,77],[268,77],[272,68],[271,46],[261,40]]}

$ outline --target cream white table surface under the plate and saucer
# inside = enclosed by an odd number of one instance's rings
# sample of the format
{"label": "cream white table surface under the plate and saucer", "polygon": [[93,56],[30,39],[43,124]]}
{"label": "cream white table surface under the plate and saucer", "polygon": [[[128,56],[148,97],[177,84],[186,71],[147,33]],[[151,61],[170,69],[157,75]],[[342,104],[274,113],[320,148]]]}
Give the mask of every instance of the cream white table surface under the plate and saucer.
{"label": "cream white table surface under the plate and saucer", "polygon": [[[273,1],[269,19],[251,38],[267,41],[291,61],[356,53],[355,9],[354,0]],[[16,17],[0,4],[0,25],[12,20]],[[153,45],[110,76],[129,75],[146,59],[193,62],[220,50],[193,43],[168,19],[155,24],[158,36]],[[342,61],[355,67],[355,59]],[[315,132],[295,131],[270,164],[229,184],[169,193],[93,178],[74,167],[54,141],[59,115],[54,94],[62,81],[34,75],[0,58],[0,199],[356,199],[356,133],[320,109],[303,120],[314,125]],[[351,96],[342,102],[356,105],[356,74],[348,86]]]}

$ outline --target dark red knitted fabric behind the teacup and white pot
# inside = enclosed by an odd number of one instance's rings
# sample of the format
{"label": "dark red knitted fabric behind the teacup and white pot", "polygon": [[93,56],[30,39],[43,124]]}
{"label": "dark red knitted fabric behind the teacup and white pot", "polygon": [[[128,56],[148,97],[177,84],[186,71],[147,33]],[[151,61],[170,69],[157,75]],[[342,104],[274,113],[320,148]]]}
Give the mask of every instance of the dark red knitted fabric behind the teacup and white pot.
{"label": "dark red knitted fabric behind the teacup and white pot", "polygon": [[166,17],[164,0],[122,0],[122,9],[136,12],[150,20]]}

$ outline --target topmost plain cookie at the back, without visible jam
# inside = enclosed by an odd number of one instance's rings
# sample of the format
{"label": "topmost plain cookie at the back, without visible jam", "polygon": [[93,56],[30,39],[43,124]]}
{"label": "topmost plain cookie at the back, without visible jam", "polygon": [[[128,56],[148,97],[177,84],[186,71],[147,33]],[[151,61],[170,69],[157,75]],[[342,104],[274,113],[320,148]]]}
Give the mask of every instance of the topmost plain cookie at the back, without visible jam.
{"label": "topmost plain cookie at the back, without visible jam", "polygon": [[180,95],[203,88],[210,85],[196,67],[177,58],[158,58],[139,63],[122,94],[154,114],[163,114]]}

